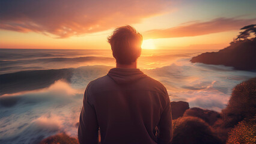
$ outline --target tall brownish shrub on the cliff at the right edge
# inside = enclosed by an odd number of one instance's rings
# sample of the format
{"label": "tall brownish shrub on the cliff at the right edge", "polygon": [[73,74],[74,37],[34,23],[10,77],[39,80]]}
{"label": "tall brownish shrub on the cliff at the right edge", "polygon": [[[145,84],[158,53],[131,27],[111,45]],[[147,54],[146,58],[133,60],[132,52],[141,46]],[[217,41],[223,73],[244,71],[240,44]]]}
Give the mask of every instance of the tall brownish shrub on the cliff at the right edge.
{"label": "tall brownish shrub on the cliff at the right edge", "polygon": [[230,101],[222,110],[224,127],[234,127],[244,118],[256,115],[256,77],[237,85],[232,92]]}

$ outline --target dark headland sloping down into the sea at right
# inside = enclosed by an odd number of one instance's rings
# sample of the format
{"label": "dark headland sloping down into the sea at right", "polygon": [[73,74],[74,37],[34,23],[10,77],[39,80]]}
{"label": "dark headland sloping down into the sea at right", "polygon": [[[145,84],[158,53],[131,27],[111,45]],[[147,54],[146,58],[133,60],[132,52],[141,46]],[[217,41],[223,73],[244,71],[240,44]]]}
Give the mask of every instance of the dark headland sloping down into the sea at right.
{"label": "dark headland sloping down into the sea at right", "polygon": [[219,52],[207,52],[195,56],[191,62],[204,64],[225,65],[237,70],[256,70],[256,38],[254,40],[231,43]]}

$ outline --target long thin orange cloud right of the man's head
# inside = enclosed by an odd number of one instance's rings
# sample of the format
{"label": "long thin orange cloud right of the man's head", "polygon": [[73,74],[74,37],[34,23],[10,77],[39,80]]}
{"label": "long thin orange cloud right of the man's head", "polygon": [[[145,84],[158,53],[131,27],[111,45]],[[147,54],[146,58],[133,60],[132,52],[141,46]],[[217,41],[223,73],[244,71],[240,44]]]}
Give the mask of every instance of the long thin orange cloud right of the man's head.
{"label": "long thin orange cloud right of the man's head", "polygon": [[193,37],[197,35],[212,34],[237,30],[245,25],[256,23],[256,19],[234,19],[220,17],[209,22],[187,22],[180,26],[168,29],[153,29],[144,33],[144,38],[174,38],[174,37]]}

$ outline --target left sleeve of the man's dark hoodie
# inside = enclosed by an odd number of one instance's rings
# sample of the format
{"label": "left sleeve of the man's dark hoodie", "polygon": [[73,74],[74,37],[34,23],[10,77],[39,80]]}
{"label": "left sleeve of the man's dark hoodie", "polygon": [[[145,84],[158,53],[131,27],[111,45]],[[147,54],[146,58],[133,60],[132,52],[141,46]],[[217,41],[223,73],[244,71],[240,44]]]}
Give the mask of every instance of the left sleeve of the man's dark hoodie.
{"label": "left sleeve of the man's dark hoodie", "polygon": [[79,143],[97,143],[98,142],[98,130],[96,111],[94,106],[88,100],[91,94],[91,85],[87,85],[84,94],[83,107],[79,119],[78,127],[78,139]]}

